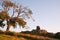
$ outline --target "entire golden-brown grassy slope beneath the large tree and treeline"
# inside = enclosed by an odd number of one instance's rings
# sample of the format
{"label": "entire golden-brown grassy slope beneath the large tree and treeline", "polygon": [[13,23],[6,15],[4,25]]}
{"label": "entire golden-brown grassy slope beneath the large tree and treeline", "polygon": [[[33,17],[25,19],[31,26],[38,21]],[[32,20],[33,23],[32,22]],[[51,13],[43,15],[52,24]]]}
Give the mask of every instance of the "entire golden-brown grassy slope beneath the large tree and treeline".
{"label": "entire golden-brown grassy slope beneath the large tree and treeline", "polygon": [[44,36],[16,33],[16,32],[0,32],[0,40],[59,40]]}

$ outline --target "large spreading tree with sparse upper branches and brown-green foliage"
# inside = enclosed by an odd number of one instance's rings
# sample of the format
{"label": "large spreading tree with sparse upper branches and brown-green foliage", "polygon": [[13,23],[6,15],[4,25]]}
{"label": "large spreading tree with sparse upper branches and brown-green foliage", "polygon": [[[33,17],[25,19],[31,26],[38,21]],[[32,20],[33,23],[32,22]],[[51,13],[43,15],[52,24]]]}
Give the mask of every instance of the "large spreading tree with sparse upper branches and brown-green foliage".
{"label": "large spreading tree with sparse upper branches and brown-green foliage", "polygon": [[[26,19],[31,17],[32,11],[24,7],[22,5],[17,5],[16,3],[13,3],[9,0],[2,0],[2,11],[0,11],[0,26],[2,27],[4,20],[7,21],[7,29],[6,31],[9,31],[10,26],[16,27],[17,23],[20,25],[20,27],[25,27],[26,25]],[[9,15],[10,8],[13,9],[13,13],[11,16]],[[14,16],[17,13],[16,16]]]}

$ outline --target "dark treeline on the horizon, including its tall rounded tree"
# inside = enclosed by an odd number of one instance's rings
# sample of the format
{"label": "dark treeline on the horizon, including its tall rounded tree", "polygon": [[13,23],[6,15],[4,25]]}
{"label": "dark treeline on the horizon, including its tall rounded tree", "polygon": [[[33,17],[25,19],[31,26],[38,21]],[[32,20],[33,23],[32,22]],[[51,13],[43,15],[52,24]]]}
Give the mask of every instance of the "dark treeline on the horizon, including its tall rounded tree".
{"label": "dark treeline on the horizon, including its tall rounded tree", "polygon": [[41,30],[39,26],[37,26],[35,30],[22,31],[21,33],[40,35],[40,36],[46,36],[46,37],[50,37],[50,38],[60,39],[60,32],[50,33],[50,32],[47,32],[46,30]]}

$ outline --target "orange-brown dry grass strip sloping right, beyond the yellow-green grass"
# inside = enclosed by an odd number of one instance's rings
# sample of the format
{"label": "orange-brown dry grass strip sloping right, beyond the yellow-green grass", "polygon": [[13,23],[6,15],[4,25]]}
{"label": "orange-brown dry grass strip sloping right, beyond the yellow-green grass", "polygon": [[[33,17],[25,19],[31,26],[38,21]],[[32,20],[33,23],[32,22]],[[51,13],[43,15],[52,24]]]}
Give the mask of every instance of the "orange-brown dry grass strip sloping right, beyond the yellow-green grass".
{"label": "orange-brown dry grass strip sloping right, beyond the yellow-green grass", "polygon": [[36,40],[51,40],[50,38],[48,37],[44,37],[44,36],[37,36],[37,35],[31,35],[31,34],[23,34],[23,33],[20,33],[19,34],[20,36],[23,36],[27,39],[36,39]]}

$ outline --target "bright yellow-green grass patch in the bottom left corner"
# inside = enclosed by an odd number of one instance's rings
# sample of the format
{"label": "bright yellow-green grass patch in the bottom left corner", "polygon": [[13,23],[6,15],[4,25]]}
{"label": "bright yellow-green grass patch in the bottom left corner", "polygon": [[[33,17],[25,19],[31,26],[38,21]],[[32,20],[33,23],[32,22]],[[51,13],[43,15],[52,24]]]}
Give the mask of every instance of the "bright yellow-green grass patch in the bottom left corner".
{"label": "bright yellow-green grass patch in the bottom left corner", "polygon": [[0,34],[0,40],[25,40],[25,38]]}

